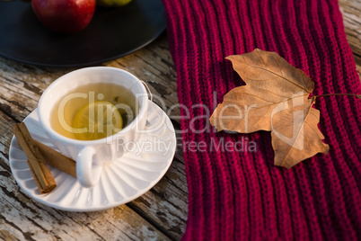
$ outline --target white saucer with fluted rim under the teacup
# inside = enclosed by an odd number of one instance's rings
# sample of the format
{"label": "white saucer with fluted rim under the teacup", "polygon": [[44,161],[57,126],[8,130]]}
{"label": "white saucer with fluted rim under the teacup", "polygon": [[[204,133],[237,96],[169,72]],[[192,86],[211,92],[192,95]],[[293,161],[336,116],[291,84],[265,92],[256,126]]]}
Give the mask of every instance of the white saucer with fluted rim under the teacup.
{"label": "white saucer with fluted rim under the teacup", "polygon": [[[96,186],[84,188],[75,177],[49,166],[57,188],[48,194],[40,194],[27,157],[13,137],[9,161],[16,182],[32,199],[59,210],[106,210],[135,200],[161,180],[172,163],[177,145],[168,116],[156,104],[150,103],[149,106],[146,132],[137,140],[144,146],[129,145],[128,153],[104,166],[101,181]],[[32,138],[53,147],[41,129],[37,110],[31,112],[24,122]]]}

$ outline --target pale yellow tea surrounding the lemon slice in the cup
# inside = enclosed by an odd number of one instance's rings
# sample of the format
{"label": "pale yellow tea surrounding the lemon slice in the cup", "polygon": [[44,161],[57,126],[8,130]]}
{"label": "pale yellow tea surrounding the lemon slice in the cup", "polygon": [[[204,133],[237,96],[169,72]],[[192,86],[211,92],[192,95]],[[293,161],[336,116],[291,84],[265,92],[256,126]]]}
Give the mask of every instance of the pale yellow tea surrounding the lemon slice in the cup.
{"label": "pale yellow tea surrounding the lemon slice in the cup", "polygon": [[51,110],[51,127],[67,138],[79,139],[75,134],[79,130],[74,126],[76,113],[89,103],[99,101],[110,102],[117,107],[122,117],[123,128],[136,118],[139,109],[136,96],[124,86],[111,83],[81,85],[63,96]]}

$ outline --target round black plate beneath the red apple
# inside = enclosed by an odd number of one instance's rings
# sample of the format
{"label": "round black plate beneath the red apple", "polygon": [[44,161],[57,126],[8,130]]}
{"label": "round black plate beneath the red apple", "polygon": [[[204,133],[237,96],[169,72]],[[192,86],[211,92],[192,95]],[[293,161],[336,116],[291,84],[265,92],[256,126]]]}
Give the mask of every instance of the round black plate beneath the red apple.
{"label": "round black plate beneath the red apple", "polygon": [[165,26],[161,0],[97,7],[92,22],[75,34],[48,31],[32,12],[31,3],[0,2],[0,55],[38,66],[96,65],[144,47]]}

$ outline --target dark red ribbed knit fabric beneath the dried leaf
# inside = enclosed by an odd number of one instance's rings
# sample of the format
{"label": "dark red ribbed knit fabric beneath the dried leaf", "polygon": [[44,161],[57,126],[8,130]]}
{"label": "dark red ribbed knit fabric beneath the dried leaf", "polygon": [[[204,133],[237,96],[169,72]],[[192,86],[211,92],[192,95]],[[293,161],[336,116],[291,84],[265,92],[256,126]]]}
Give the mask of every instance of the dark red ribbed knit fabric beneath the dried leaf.
{"label": "dark red ribbed knit fabric beneath the dried leaf", "polygon": [[[313,94],[361,94],[338,1],[163,0],[163,4],[178,75],[189,185],[183,239],[360,240],[360,100],[318,98],[319,127],[330,153],[290,170],[273,165],[269,132],[216,132],[207,120],[228,91],[244,85],[225,57],[255,48],[276,51],[304,70],[315,82]],[[243,149],[232,147],[241,142]],[[247,143],[255,143],[256,150],[245,147]]]}

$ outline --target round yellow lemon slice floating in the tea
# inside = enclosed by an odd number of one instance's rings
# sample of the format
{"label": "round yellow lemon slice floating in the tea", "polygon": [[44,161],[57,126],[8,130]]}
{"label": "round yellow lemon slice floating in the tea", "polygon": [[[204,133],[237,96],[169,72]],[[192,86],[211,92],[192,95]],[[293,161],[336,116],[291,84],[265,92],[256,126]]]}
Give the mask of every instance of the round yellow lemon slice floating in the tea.
{"label": "round yellow lemon slice floating in the tea", "polygon": [[109,137],[123,126],[123,119],[110,102],[93,102],[84,105],[73,122],[75,138],[92,140]]}

